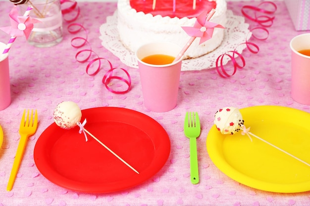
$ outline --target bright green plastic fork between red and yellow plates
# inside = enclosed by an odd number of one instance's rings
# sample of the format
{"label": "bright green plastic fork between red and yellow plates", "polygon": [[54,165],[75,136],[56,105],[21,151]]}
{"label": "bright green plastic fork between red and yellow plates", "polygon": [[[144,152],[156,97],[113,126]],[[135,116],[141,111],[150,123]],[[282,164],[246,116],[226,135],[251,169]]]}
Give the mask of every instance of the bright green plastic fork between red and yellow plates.
{"label": "bright green plastic fork between red and yellow plates", "polygon": [[191,182],[199,182],[197,143],[196,138],[200,135],[200,121],[197,112],[187,112],[184,120],[184,134],[190,139],[190,164],[191,164]]}

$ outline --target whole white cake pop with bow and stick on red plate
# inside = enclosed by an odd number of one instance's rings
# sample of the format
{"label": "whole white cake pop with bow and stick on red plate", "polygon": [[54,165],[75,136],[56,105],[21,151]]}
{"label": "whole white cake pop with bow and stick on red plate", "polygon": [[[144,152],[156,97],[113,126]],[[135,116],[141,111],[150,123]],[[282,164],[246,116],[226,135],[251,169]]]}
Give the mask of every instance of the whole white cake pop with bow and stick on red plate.
{"label": "whole white cake pop with bow and stick on red plate", "polygon": [[[86,124],[86,120],[84,120],[83,124],[80,123],[82,112],[79,108],[79,106],[71,101],[65,101],[58,104],[53,112],[53,117],[55,123],[60,126],[63,129],[71,129],[78,125],[80,127],[79,133],[84,133],[86,141],[88,133],[91,137],[93,137],[97,142],[99,142],[105,149],[107,149],[110,153],[112,153],[116,158],[118,158],[120,161],[122,161],[125,165],[127,165],[129,168],[131,168],[133,171],[139,174],[139,172],[129,165],[127,162],[125,162],[122,158],[120,158],[117,154],[115,154],[111,149],[109,149],[105,144],[103,144],[98,138],[96,138],[92,133],[90,133],[88,130],[84,128],[84,125]],[[86,132],[86,133],[85,133]]]}

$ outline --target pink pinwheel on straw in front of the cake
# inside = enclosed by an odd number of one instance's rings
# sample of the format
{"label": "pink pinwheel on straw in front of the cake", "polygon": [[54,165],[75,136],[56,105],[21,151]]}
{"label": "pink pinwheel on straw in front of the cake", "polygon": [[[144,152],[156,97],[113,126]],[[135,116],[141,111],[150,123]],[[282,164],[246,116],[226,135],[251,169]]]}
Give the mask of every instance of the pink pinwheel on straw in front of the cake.
{"label": "pink pinwheel on straw in front of the cake", "polygon": [[200,37],[199,44],[212,38],[214,28],[225,29],[222,25],[209,22],[207,20],[208,12],[205,11],[197,17],[194,27],[182,27],[183,30],[191,37]]}

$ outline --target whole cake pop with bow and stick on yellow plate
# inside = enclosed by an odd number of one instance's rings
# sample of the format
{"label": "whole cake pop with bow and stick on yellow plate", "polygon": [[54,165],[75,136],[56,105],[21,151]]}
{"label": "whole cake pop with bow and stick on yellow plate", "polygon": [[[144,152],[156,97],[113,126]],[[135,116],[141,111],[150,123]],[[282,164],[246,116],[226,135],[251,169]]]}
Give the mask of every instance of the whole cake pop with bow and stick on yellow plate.
{"label": "whole cake pop with bow and stick on yellow plate", "polygon": [[244,125],[244,120],[242,119],[242,115],[238,108],[235,107],[224,107],[222,109],[219,109],[214,116],[214,124],[216,125],[216,128],[218,131],[220,131],[222,134],[235,134],[236,132],[241,130],[241,134],[245,135],[247,134],[250,140],[252,141],[252,138],[250,135],[256,137],[257,139],[263,141],[264,143],[276,148],[277,150],[291,156],[292,158],[304,163],[305,165],[310,166],[309,163],[299,159],[298,157],[286,152],[285,150],[271,144],[270,142],[260,138],[259,136],[253,134],[250,132],[250,127],[246,128]]}

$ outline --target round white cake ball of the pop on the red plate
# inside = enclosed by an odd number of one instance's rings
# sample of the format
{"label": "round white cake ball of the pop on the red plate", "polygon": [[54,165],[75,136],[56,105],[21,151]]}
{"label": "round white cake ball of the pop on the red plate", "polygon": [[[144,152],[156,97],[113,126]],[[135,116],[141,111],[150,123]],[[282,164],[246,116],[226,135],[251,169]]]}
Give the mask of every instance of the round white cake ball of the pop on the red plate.
{"label": "round white cake ball of the pop on the red plate", "polygon": [[58,126],[63,129],[71,129],[81,121],[82,112],[76,103],[64,101],[56,106],[53,116]]}

